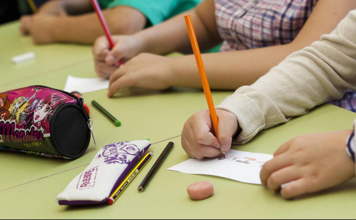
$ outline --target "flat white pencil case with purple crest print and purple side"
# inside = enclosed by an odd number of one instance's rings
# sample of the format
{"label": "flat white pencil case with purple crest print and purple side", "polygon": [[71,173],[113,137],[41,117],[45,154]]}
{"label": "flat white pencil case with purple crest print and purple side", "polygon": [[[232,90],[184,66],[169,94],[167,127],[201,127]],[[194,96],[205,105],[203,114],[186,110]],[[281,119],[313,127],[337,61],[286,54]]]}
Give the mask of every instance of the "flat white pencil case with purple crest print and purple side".
{"label": "flat white pencil case with purple crest print and purple side", "polygon": [[105,145],[89,166],[57,196],[56,201],[59,205],[105,203],[150,145],[149,140]]}

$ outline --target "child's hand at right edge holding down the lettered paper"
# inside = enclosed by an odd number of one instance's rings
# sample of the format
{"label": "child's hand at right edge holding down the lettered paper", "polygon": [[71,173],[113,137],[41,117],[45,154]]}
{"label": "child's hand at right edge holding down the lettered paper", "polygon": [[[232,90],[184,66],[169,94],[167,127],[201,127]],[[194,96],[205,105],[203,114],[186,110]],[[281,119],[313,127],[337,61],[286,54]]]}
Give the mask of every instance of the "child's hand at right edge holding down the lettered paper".
{"label": "child's hand at right edge holding down the lettered paper", "polygon": [[292,198],[341,184],[355,176],[355,163],[347,155],[350,130],[302,135],[284,143],[263,165],[262,185]]}

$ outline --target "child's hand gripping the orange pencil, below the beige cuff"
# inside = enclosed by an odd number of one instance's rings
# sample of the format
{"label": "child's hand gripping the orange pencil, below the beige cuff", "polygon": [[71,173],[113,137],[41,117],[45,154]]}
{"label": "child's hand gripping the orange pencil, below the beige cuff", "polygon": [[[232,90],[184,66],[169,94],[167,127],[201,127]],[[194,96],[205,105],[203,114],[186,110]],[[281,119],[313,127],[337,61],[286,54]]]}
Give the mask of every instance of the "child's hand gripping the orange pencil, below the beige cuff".
{"label": "child's hand gripping the orange pencil, below the beige cuff", "polygon": [[232,137],[238,127],[237,119],[231,112],[216,109],[219,118],[218,138],[211,133],[212,125],[208,110],[193,114],[182,131],[182,147],[191,158],[217,157],[231,147]]}

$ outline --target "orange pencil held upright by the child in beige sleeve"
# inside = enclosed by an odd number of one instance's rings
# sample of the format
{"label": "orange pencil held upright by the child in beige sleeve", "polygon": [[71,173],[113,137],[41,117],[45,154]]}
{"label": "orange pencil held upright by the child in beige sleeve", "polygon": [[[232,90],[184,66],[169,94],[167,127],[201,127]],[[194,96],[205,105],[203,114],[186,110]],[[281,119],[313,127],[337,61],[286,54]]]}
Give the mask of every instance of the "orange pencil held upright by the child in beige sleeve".
{"label": "orange pencil held upright by the child in beige sleeve", "polygon": [[[216,115],[213,98],[211,97],[210,86],[209,86],[208,78],[206,77],[203,60],[201,60],[199,45],[197,41],[197,36],[195,36],[192,18],[190,17],[190,15],[185,15],[184,19],[185,19],[185,24],[187,24],[190,44],[192,44],[195,61],[197,61],[201,85],[203,85],[206,102],[208,102],[210,118],[211,121],[213,122],[214,132],[215,135],[218,135],[218,116]],[[225,157],[225,152],[221,151],[221,154],[223,154],[223,157]]]}

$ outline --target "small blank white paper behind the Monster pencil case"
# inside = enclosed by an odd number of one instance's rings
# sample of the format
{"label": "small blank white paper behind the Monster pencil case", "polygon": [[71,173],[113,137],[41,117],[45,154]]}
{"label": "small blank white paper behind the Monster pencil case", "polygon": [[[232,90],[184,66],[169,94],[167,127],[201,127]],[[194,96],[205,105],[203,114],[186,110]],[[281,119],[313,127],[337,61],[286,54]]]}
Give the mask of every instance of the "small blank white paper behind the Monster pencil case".
{"label": "small blank white paper behind the Monster pencil case", "polygon": [[68,75],[64,91],[66,92],[94,92],[109,88],[109,80],[104,80],[99,77],[95,78],[80,78]]}

